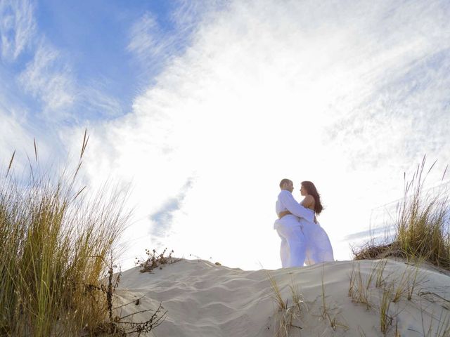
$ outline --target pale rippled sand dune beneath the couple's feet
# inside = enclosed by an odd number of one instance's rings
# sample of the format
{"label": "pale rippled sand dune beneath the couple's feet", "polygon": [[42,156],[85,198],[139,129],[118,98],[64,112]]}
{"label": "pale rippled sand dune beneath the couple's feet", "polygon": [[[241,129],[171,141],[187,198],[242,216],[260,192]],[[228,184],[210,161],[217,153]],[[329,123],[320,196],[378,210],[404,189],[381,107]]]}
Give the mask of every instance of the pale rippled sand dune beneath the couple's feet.
{"label": "pale rippled sand dune beneath the couple's feet", "polygon": [[[293,303],[290,284],[295,284],[304,298],[300,319],[293,322],[302,329],[291,327],[289,336],[384,336],[380,331],[383,289],[390,284],[394,292],[401,284],[407,289],[406,279],[412,284],[416,269],[389,260],[383,285],[377,288],[374,277],[368,286],[371,309],[367,310],[366,305],[354,303],[349,297],[349,279],[352,268],[356,272],[359,263],[361,278],[367,280],[376,262],[342,261],[269,271],[232,269],[205,260],[180,260],[153,273],[141,273],[136,267],[122,273],[115,305],[144,296],[139,305],[133,303],[121,308],[119,313],[124,316],[145,309],[155,310],[162,303],[167,317],[147,336],[275,336],[281,312],[270,296],[269,272],[283,300],[288,300],[288,306]],[[402,279],[402,275],[409,277]],[[450,319],[450,276],[430,267],[420,267],[417,280],[411,300],[404,293],[396,303],[388,302],[392,325],[388,326],[387,336],[395,336],[396,329],[398,336],[424,336],[424,331],[425,336],[436,336],[439,324],[440,329],[445,326],[450,329],[450,322],[446,324],[446,319]],[[323,315],[322,284],[329,319]],[[133,319],[145,321],[148,317],[147,312],[134,315]],[[427,335],[428,331],[432,332]]]}

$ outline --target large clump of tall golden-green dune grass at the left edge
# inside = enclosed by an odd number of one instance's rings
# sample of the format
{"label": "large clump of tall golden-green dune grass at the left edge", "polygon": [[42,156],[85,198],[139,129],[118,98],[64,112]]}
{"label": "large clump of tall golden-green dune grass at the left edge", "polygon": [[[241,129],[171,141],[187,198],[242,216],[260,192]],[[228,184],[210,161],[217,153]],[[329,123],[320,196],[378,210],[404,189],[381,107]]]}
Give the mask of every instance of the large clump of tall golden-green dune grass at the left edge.
{"label": "large clump of tall golden-green dune grass at the left edge", "polygon": [[124,195],[105,187],[94,197],[72,174],[39,171],[37,146],[27,178],[14,155],[0,179],[0,336],[94,335],[108,315],[103,261],[127,221]]}

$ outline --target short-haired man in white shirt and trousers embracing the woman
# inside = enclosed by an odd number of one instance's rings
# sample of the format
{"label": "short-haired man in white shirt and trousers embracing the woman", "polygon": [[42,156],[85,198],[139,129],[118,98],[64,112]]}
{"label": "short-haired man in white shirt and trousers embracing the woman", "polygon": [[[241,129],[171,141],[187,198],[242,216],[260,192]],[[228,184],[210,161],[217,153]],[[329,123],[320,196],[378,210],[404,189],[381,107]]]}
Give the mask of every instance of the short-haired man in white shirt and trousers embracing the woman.
{"label": "short-haired man in white shirt and trousers embracing the woman", "polygon": [[306,256],[306,242],[299,218],[314,222],[314,211],[304,208],[293,197],[294,184],[289,179],[280,182],[281,192],[278,194],[275,209],[278,216],[282,211],[292,214],[275,220],[274,230],[281,237],[281,266],[302,267]]}

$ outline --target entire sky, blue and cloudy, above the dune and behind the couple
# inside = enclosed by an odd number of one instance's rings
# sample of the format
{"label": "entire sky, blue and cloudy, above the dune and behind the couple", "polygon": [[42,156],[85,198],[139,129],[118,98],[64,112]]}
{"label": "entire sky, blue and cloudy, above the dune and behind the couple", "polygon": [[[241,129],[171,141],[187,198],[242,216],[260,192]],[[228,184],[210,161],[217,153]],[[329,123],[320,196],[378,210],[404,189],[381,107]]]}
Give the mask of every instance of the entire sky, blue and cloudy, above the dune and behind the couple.
{"label": "entire sky, blue and cloudy, above the dune and behind the couple", "polygon": [[281,267],[282,178],[298,201],[315,183],[349,260],[424,155],[428,186],[448,183],[449,17],[446,0],[0,0],[0,164],[16,150],[20,171],[34,138],[64,163],[87,128],[84,183],[130,188],[122,269],[165,247]]}

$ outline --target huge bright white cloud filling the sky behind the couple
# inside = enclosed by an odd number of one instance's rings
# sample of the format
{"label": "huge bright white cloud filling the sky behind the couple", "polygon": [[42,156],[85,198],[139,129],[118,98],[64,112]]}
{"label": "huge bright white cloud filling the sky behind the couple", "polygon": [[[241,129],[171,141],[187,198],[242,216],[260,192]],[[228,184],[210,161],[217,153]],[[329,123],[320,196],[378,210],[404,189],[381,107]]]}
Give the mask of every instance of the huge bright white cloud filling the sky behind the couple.
{"label": "huge bright white cloud filling the sky behind the couple", "polygon": [[[301,180],[316,183],[321,223],[349,258],[341,240],[401,197],[403,171],[424,152],[450,161],[448,16],[443,1],[235,1],[206,15],[131,114],[91,126],[89,178],[134,182],[126,257],[164,242],[279,267],[274,203],[292,178],[296,197]],[[150,237],[171,200],[170,232]]]}

